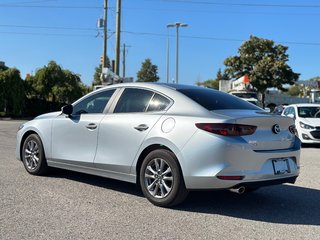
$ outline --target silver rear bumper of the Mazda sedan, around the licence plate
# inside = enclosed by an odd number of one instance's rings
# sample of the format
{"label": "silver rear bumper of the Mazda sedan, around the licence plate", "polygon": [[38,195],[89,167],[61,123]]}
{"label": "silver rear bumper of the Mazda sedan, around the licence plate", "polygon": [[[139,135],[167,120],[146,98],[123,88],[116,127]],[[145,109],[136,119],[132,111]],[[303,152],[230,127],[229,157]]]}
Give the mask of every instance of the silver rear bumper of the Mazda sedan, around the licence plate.
{"label": "silver rear bumper of the Mazda sedan, around the licence plate", "polygon": [[[300,140],[297,137],[290,149],[266,151],[254,151],[239,140],[210,142],[208,139],[207,144],[200,147],[198,143],[199,139],[193,138],[178,156],[186,188],[190,190],[293,183],[299,175]],[[275,160],[284,161],[288,171],[277,172]],[[221,176],[225,178],[220,179]],[[229,176],[241,179],[226,179]]]}

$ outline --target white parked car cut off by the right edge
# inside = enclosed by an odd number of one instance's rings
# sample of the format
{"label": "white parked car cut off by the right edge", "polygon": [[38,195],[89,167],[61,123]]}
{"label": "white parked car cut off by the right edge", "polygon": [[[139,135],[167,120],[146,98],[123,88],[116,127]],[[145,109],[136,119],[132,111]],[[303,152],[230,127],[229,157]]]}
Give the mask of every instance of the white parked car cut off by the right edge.
{"label": "white parked car cut off by the right edge", "polygon": [[320,143],[320,104],[292,104],[282,115],[294,119],[302,143]]}

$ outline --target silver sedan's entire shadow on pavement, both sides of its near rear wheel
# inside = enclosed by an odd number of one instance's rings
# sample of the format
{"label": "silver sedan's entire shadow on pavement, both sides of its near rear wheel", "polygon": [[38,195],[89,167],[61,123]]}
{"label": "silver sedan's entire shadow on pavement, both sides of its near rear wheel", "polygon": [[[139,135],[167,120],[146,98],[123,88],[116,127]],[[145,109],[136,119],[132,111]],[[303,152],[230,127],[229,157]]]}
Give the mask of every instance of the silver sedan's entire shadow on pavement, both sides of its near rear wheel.
{"label": "silver sedan's entire shadow on pavement, both sides of its near rear wheel", "polygon": [[[51,169],[48,176],[143,197],[140,188],[132,183],[62,169]],[[319,204],[320,190],[284,184],[242,195],[230,191],[194,191],[172,210],[269,223],[320,225]]]}

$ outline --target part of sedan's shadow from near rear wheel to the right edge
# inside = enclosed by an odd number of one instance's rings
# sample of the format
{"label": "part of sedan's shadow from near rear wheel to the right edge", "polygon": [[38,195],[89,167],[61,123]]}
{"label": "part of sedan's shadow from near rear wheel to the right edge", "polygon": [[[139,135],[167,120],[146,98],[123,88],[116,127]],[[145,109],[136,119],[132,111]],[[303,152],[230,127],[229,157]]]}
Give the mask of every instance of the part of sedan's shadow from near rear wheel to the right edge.
{"label": "part of sedan's shadow from near rear wheel to the right edge", "polygon": [[244,195],[192,192],[177,209],[270,223],[320,225],[320,191],[277,185]]}

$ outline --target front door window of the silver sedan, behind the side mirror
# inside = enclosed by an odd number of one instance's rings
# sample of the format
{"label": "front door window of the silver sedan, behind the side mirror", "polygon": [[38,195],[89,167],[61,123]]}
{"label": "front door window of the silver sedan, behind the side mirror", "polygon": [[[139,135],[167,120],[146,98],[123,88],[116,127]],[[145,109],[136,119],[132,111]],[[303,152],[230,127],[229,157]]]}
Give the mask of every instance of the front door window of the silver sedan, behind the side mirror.
{"label": "front door window of the silver sedan, behind the side mirror", "polygon": [[73,106],[73,114],[102,113],[115,89],[103,91],[83,99]]}

